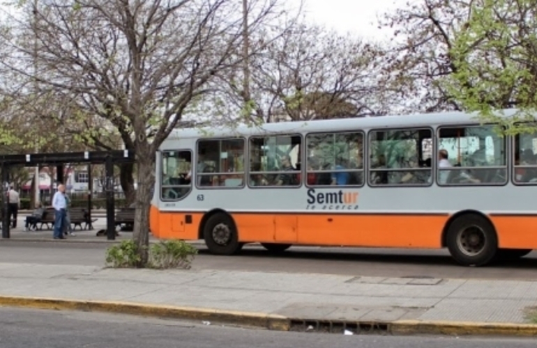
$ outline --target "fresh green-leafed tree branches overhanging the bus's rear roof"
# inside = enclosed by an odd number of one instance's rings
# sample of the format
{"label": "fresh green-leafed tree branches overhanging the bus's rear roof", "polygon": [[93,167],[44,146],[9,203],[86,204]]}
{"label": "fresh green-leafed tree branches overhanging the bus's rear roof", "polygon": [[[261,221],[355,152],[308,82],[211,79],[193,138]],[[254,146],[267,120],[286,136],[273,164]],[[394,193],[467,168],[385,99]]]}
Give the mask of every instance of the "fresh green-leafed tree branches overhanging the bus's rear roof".
{"label": "fresh green-leafed tree branches overhanging the bus's rear roof", "polygon": [[[508,134],[537,132],[535,47],[534,1],[472,3],[468,22],[455,33],[450,52],[456,70],[443,84],[455,102],[476,112],[483,122],[506,126]],[[512,116],[500,117],[499,109],[513,106],[517,111]]]}

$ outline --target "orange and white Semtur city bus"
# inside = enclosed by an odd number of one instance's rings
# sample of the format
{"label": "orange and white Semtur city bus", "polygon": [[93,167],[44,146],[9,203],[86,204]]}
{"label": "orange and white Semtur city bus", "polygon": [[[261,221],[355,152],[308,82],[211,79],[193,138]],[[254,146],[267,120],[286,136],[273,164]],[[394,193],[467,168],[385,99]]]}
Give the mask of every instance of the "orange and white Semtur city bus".
{"label": "orange and white Semtur city bus", "polygon": [[156,156],[151,232],[218,255],[259,243],[521,258],[537,248],[537,134],[497,130],[462,112],[176,129]]}

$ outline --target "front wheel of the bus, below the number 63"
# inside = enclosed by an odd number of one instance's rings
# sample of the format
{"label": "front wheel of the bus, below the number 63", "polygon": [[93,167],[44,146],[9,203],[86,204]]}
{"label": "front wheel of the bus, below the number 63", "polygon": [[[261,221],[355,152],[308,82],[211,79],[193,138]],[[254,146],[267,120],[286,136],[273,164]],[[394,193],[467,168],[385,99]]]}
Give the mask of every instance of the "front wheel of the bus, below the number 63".
{"label": "front wheel of the bus, below the number 63", "polygon": [[239,243],[239,233],[231,216],[217,213],[207,219],[203,237],[209,251],[215,255],[233,255],[243,244]]}

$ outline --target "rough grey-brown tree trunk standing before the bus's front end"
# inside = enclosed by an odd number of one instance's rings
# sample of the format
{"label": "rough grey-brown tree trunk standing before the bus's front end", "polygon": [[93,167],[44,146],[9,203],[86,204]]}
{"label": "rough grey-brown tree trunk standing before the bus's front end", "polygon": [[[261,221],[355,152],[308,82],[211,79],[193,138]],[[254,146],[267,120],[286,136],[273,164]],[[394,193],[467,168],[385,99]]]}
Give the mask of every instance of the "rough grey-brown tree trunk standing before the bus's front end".
{"label": "rough grey-brown tree trunk standing before the bus's front end", "polygon": [[138,246],[141,258],[138,267],[145,267],[149,256],[149,207],[153,198],[153,186],[155,185],[155,154],[147,150],[139,150],[136,153],[138,169],[138,188],[136,190],[136,212],[133,230],[133,238]]}

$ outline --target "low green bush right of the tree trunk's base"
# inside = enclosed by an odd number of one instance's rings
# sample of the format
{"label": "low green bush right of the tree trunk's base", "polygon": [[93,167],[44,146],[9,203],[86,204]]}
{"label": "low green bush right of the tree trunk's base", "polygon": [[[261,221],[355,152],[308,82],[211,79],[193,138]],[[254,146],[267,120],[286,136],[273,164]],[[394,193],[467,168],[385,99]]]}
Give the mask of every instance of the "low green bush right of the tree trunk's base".
{"label": "low green bush right of the tree trunk's base", "polygon": [[149,265],[157,269],[190,269],[197,249],[181,240],[167,240],[153,244],[149,248]]}

